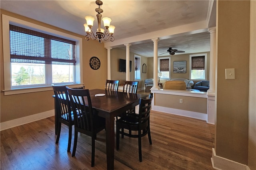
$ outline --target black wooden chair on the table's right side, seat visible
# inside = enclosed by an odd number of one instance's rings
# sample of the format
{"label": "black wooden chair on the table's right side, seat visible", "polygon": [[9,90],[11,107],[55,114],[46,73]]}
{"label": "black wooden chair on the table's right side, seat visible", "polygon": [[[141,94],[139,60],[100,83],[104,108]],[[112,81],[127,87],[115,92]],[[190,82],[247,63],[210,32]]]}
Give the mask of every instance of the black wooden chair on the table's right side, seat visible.
{"label": "black wooden chair on the table's right side, seat visible", "polygon": [[[138,138],[139,146],[139,160],[142,162],[142,151],[141,151],[141,137],[148,134],[148,140],[152,145],[150,135],[150,109],[153,94],[151,93],[148,99],[140,98],[140,107],[138,114],[123,115],[120,119],[116,120],[116,150],[119,150],[120,134],[122,138],[124,136]],[[136,134],[126,133],[124,129],[129,131],[137,131]]]}

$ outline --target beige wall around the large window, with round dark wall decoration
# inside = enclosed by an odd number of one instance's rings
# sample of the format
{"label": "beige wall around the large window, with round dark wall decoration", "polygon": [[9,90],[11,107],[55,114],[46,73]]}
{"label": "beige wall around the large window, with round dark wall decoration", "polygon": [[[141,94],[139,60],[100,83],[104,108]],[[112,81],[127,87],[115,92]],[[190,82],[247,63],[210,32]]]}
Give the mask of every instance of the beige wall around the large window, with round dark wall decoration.
{"label": "beige wall around the large window, with round dark wall decoration", "polygon": [[[5,10],[1,10],[1,28],[2,28],[2,14],[12,16],[21,20],[30,21],[32,23],[42,25],[44,27],[49,27],[51,29],[56,29],[70,35],[75,35],[77,37],[83,38],[83,81],[84,85],[88,89],[93,88],[104,88],[107,77],[107,51],[104,49],[104,44],[98,43],[98,41],[86,41],[84,36],[41,23],[36,20],[31,20],[29,18],[19,16]],[[2,31],[1,31],[1,51],[0,51],[0,119],[1,122],[10,121],[13,119],[18,119],[20,117],[25,117],[29,115],[34,115],[36,113],[41,113],[44,111],[49,111],[54,109],[54,99],[52,98],[53,91],[45,92],[34,92],[26,94],[16,94],[4,96],[4,67],[3,67],[3,41],[2,41]],[[96,56],[100,59],[101,66],[98,70],[92,70],[89,66],[89,60],[92,56]]]}

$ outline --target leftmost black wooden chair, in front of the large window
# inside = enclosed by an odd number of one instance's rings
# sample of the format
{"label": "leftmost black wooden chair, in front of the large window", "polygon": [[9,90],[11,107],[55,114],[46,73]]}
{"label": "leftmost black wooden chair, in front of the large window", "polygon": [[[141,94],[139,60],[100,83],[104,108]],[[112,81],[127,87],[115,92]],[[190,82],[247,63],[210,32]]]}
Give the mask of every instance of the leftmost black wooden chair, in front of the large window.
{"label": "leftmost black wooden chair, in front of the large window", "polygon": [[71,147],[71,139],[72,139],[72,125],[74,125],[74,116],[73,112],[70,109],[70,102],[68,99],[68,92],[66,86],[54,86],[52,84],[52,89],[54,91],[55,100],[57,104],[57,117],[58,117],[58,132],[57,132],[57,139],[56,144],[59,142],[60,139],[60,131],[61,131],[61,124],[68,126],[68,152],[70,151]]}

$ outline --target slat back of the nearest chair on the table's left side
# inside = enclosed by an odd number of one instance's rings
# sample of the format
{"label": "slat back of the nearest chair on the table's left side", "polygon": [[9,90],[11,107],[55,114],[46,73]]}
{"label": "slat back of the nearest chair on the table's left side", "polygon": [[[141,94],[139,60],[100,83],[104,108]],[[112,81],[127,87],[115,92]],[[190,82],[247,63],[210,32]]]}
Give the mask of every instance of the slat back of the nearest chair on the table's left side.
{"label": "slat back of the nearest chair on the table's left side", "polygon": [[92,101],[88,89],[68,88],[75,127],[93,132]]}

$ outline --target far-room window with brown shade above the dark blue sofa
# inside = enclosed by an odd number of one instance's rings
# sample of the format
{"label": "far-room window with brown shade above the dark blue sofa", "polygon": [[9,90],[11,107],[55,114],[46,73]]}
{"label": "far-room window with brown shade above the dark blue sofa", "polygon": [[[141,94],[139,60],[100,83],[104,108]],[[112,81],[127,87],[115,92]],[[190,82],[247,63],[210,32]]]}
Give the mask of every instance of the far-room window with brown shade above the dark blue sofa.
{"label": "far-room window with brown shade above the dark blue sofa", "polygon": [[207,54],[189,55],[190,57],[190,79],[206,80]]}

